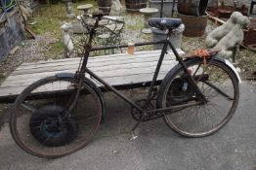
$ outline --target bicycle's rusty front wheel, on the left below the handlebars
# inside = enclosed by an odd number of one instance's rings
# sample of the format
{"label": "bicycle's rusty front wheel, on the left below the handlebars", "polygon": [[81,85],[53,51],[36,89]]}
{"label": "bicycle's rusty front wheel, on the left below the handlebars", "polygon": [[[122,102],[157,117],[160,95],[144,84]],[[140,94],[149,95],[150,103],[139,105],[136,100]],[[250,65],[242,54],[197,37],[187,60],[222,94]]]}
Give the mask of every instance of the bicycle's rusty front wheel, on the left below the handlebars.
{"label": "bicycle's rusty front wheel, on the left below the handlebars", "polygon": [[83,84],[75,107],[73,78],[48,77],[26,87],[15,102],[11,132],[27,153],[60,157],[83,148],[98,130],[101,101],[88,83]]}

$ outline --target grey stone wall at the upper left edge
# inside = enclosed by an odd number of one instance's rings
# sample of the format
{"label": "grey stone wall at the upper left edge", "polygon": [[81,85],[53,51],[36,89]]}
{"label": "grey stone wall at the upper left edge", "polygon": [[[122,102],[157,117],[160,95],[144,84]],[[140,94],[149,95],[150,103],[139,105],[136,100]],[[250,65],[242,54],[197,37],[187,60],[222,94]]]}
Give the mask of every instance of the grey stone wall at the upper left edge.
{"label": "grey stone wall at the upper left edge", "polygon": [[[0,16],[3,14],[0,14]],[[17,9],[8,13],[0,20],[0,61],[4,60],[9,52],[21,43],[24,37],[22,17]]]}

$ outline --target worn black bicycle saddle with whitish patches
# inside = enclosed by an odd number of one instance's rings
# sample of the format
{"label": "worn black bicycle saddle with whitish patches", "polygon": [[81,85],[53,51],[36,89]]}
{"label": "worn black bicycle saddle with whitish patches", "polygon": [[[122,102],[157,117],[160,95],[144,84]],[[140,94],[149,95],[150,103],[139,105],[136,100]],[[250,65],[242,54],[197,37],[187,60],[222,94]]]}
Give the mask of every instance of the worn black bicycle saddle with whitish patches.
{"label": "worn black bicycle saddle with whitish patches", "polygon": [[159,29],[175,29],[182,23],[180,18],[153,17],[149,19],[149,26]]}

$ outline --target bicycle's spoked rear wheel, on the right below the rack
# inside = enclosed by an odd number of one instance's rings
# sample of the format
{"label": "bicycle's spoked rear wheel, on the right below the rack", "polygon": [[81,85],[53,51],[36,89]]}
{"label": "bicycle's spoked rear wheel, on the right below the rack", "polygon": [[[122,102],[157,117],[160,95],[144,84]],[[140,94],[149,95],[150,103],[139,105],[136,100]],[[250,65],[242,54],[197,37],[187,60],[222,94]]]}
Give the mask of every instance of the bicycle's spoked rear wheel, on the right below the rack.
{"label": "bicycle's spoked rear wheel, on the right below the rack", "polygon": [[[203,137],[222,128],[234,115],[239,98],[235,73],[221,61],[201,58],[186,61],[189,72],[207,99],[207,103],[165,113],[165,122],[187,137]],[[163,80],[158,107],[192,104],[199,101],[181,65]]]}

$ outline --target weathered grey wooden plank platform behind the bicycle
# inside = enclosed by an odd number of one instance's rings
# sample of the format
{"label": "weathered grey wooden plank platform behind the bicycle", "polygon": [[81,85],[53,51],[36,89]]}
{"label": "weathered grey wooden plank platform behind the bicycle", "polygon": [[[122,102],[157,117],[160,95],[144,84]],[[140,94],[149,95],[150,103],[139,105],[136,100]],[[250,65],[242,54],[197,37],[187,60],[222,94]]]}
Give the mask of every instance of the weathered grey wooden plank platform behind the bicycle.
{"label": "weathered grey wooden plank platform behind the bicycle", "polygon": [[[184,53],[181,50],[178,52]],[[119,89],[146,86],[151,82],[159,55],[160,51],[138,51],[134,55],[118,53],[94,56],[89,58],[88,67]],[[65,58],[22,63],[0,86],[0,103],[13,102],[27,85],[41,78],[62,72],[75,73],[79,61],[80,58]],[[160,69],[158,84],[175,64],[177,61],[173,52],[168,51]]]}

